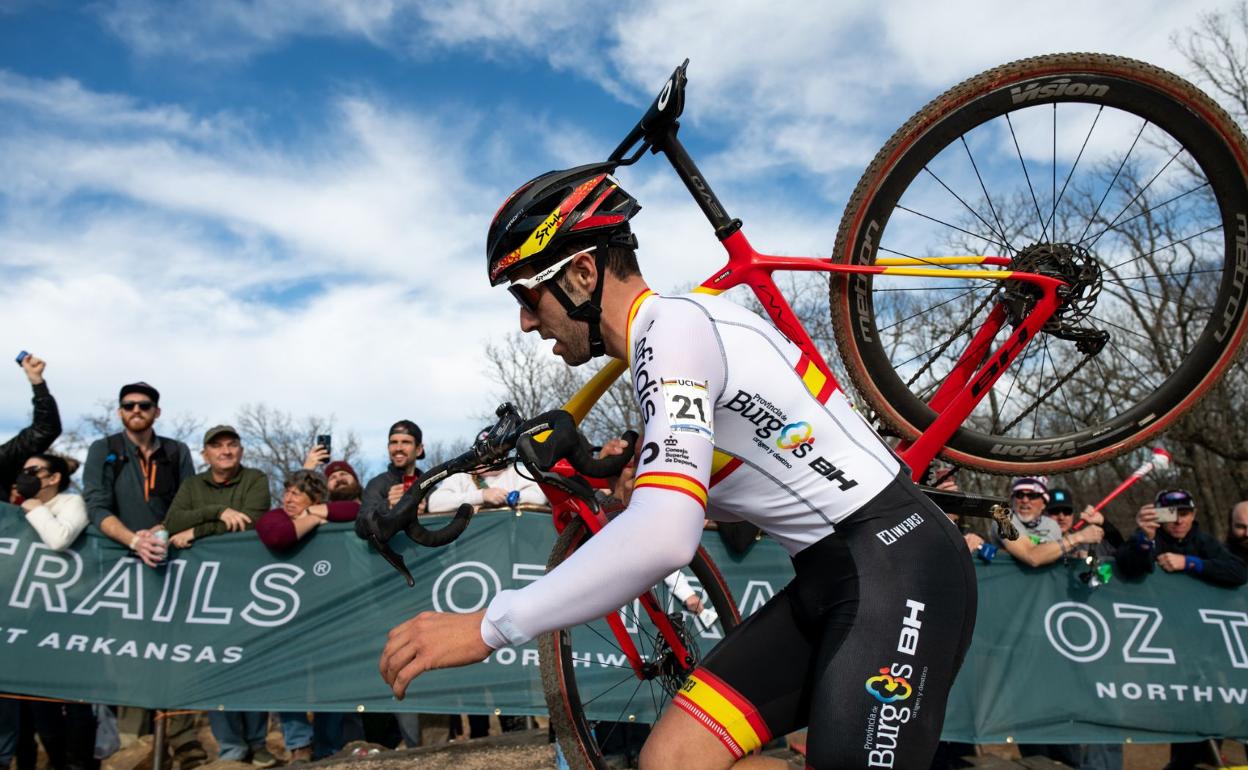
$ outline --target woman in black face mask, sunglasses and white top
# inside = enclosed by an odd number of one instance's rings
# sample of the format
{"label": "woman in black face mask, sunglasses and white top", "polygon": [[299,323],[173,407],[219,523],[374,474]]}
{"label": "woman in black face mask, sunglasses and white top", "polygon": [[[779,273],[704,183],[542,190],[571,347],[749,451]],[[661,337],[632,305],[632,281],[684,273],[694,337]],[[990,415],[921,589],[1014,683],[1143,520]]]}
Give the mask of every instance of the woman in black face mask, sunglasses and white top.
{"label": "woman in black face mask, sunglasses and white top", "polygon": [[12,485],[26,520],[52,550],[65,550],[86,529],[82,495],[65,492],[77,465],[77,461],[59,454],[35,454],[26,459]]}

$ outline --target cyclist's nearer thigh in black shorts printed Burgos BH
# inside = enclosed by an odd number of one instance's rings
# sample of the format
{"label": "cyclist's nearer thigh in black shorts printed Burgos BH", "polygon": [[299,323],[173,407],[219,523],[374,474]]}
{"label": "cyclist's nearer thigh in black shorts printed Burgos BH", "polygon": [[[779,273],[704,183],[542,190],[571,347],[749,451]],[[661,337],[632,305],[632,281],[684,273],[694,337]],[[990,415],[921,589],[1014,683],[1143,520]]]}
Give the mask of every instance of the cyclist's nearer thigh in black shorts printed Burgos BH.
{"label": "cyclist's nearer thigh in black shorts printed Burgos BH", "polygon": [[897,482],[837,524],[857,569],[852,629],[825,635],[810,766],[925,770],[975,626],[975,573],[948,519]]}

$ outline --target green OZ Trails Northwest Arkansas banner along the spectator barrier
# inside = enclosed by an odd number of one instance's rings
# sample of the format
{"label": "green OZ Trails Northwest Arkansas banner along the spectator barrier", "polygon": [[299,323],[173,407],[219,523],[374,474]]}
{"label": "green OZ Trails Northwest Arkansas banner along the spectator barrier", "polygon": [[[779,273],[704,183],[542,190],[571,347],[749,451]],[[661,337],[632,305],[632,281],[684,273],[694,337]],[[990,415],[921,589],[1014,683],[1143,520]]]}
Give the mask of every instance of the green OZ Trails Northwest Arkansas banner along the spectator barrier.
{"label": "green OZ Trails Northwest Arkansas banner along the spectator barrier", "polygon": [[[253,533],[208,538],[150,569],[94,532],[56,553],[0,505],[0,690],[147,708],[544,714],[535,643],[426,674],[403,703],[377,661],[402,620],[480,609],[537,579],[554,537],[549,515],[497,512],[447,548],[396,538],[409,589],[348,525],[285,554]],[[713,533],[704,544],[743,615],[792,574],[770,540],[744,559]],[[1030,570],[1003,557],[976,570],[978,624],[947,739],[1248,735],[1248,594],[1163,573],[1091,589],[1080,568]],[[575,636],[578,678],[617,675],[617,651],[592,641]],[[610,698],[594,709],[619,713]]]}

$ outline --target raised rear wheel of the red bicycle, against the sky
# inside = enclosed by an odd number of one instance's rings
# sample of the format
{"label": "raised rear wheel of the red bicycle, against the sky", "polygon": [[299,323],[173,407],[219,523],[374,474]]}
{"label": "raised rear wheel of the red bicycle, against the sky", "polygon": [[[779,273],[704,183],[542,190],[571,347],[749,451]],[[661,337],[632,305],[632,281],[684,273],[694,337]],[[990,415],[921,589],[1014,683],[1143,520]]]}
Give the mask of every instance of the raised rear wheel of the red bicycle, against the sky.
{"label": "raised rear wheel of the red bicycle, against the sky", "polygon": [[[1056,473],[1149,441],[1217,382],[1248,309],[1248,147],[1184,80],[1094,54],[1016,61],[906,122],[862,175],[835,258],[1008,256],[1075,287],[941,456]],[[988,312],[1018,282],[831,282],[837,346],[881,429],[914,439]],[[1007,323],[998,347],[1012,331]]]}

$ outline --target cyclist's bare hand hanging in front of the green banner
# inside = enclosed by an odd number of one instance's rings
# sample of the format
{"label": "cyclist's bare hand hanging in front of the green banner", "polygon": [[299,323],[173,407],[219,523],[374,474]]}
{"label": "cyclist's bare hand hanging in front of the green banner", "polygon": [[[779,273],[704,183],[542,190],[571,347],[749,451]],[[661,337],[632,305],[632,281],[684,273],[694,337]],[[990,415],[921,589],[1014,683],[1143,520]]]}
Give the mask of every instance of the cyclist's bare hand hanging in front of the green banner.
{"label": "cyclist's bare hand hanging in front of the green banner", "polygon": [[382,679],[399,700],[413,679],[433,669],[479,663],[492,650],[480,638],[485,610],[467,615],[421,613],[391,629],[382,650]]}

